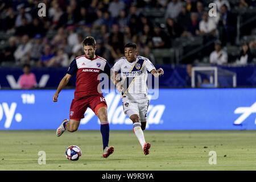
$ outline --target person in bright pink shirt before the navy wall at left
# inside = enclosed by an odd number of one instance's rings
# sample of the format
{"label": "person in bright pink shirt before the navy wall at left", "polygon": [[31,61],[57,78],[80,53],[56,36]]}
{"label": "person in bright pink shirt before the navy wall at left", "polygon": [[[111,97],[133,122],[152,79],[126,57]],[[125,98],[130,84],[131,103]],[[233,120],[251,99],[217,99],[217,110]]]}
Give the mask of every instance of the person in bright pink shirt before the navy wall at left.
{"label": "person in bright pink shirt before the navy wall at left", "polygon": [[32,89],[36,87],[36,77],[30,72],[30,65],[23,65],[23,75],[20,75],[19,86],[21,89]]}

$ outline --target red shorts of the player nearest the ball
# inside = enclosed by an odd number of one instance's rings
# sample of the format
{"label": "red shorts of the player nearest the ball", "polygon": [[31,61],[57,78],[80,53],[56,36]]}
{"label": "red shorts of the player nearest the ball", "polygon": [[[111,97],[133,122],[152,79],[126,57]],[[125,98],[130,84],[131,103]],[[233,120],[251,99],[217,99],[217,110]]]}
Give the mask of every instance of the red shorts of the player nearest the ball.
{"label": "red shorts of the player nearest the ball", "polygon": [[107,104],[105,98],[101,95],[74,98],[69,110],[69,119],[84,118],[87,107],[90,107],[97,115],[98,109],[100,109],[100,107],[107,107]]}

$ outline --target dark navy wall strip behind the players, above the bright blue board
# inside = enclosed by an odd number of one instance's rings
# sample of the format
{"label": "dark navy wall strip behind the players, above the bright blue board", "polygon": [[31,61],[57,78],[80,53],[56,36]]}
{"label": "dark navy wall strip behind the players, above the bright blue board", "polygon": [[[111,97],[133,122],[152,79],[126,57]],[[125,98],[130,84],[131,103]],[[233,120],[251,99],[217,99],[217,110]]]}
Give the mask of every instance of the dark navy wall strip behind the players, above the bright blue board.
{"label": "dark navy wall strip behind the players, above the bright blue board", "polygon": [[[159,86],[162,88],[190,88],[191,77],[187,73],[186,65],[156,65],[156,68],[163,68],[164,75],[159,79]],[[222,69],[237,74],[237,86],[256,86],[256,65],[246,66],[222,66]],[[67,68],[32,68],[35,74],[38,88],[56,88],[60,80],[67,73]],[[22,68],[0,68],[0,89],[19,88],[19,78],[22,75]],[[221,87],[232,87],[231,77],[219,76],[218,85]],[[202,78],[203,79],[203,78]],[[230,83],[231,81],[231,83]],[[73,76],[68,86],[75,87],[76,77]]]}

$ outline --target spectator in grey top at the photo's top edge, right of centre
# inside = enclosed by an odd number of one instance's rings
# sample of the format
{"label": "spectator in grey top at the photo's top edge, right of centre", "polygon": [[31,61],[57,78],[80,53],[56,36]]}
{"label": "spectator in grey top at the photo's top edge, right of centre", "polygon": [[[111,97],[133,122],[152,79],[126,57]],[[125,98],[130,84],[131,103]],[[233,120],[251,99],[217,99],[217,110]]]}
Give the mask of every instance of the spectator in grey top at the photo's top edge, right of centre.
{"label": "spectator in grey top at the photo's top edge, right of centre", "polygon": [[172,0],[167,5],[165,18],[177,18],[181,12],[182,3],[179,0]]}

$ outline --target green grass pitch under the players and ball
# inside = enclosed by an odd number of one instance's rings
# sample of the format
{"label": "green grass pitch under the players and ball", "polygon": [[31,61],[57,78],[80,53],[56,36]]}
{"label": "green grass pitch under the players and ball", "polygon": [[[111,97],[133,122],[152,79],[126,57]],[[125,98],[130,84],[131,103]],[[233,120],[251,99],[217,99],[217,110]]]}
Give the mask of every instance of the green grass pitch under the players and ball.
{"label": "green grass pitch under the players and ball", "polygon": [[[256,131],[150,131],[145,156],[133,131],[110,131],[114,153],[102,158],[100,131],[0,131],[0,170],[256,170]],[[77,145],[82,156],[65,158],[65,148]],[[46,164],[38,164],[38,152]],[[217,164],[209,164],[216,151]]]}

